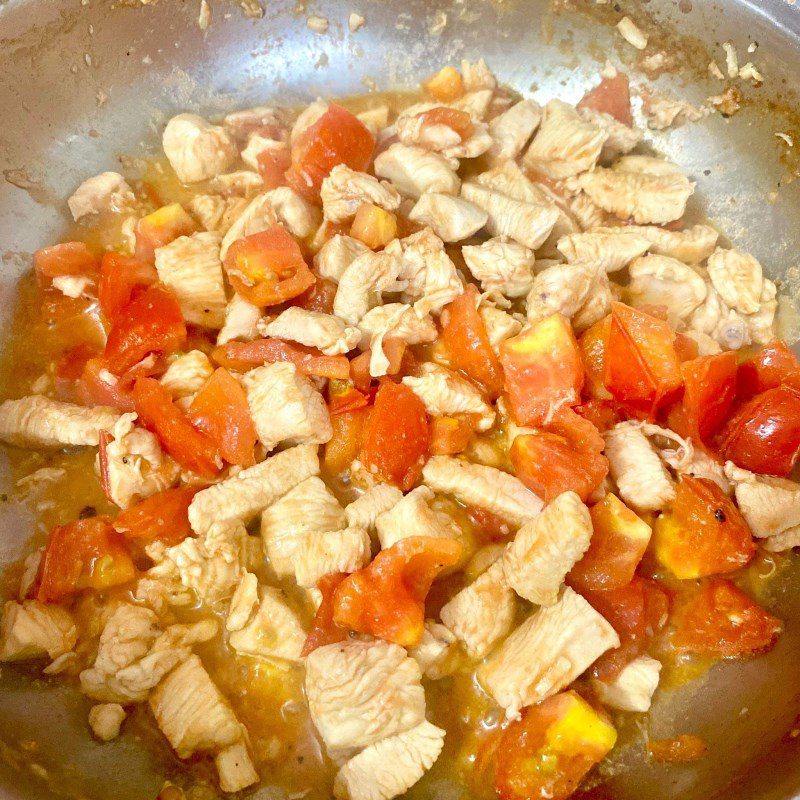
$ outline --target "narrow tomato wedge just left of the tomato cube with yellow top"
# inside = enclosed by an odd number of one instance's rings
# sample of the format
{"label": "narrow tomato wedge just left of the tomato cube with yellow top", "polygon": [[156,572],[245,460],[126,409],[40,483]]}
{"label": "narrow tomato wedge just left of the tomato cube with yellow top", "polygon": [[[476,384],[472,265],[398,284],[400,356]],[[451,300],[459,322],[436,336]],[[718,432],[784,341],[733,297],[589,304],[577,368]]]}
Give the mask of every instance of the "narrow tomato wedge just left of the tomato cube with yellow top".
{"label": "narrow tomato wedge just left of the tomato cube with yellow top", "polygon": [[503,369],[489,344],[477,309],[478,290],[470,284],[442,313],[442,343],[454,369],[480,384],[492,398],[503,391]]}

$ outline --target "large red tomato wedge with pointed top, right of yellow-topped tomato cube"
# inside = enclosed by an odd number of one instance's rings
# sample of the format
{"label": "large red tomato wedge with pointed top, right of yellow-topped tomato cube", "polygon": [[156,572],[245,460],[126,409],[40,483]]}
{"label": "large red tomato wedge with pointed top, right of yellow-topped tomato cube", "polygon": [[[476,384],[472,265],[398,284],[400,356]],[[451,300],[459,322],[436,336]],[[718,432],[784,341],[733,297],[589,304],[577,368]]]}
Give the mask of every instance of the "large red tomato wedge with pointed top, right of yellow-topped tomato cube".
{"label": "large red tomato wedge with pointed top, right of yellow-topped tomato cube", "polygon": [[683,385],[669,325],[642,311],[614,303],[605,354],[605,385],[631,414],[653,419]]}

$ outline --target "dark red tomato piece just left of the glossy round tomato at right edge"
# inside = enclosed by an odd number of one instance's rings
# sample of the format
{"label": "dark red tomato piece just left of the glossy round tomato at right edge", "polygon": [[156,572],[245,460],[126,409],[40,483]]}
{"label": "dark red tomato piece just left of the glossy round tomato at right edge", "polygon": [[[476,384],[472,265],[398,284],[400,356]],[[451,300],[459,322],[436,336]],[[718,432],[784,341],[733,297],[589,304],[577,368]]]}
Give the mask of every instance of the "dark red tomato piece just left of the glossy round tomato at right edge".
{"label": "dark red tomato piece just left of the glossy round tomato at right edge", "polygon": [[724,423],[736,395],[736,353],[685,361],[683,410],[694,438],[707,441]]}

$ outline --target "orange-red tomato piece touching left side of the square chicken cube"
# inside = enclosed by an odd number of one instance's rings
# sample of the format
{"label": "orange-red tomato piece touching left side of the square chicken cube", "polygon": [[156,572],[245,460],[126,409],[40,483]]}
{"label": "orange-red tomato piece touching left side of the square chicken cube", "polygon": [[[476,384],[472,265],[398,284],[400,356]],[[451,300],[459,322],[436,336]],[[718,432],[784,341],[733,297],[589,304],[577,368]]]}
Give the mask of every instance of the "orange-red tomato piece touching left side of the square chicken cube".
{"label": "orange-red tomato piece touching left side of the square chicken cube", "polygon": [[214,371],[187,411],[192,425],[219,448],[229,463],[251,467],[258,441],[242,385],[224,367]]}

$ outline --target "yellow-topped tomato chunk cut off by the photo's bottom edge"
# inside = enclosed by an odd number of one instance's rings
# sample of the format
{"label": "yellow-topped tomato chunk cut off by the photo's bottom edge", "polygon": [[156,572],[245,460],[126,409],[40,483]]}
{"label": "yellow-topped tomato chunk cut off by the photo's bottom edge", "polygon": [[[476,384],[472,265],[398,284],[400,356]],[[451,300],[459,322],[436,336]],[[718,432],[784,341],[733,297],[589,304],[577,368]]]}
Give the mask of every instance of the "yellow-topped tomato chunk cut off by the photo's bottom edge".
{"label": "yellow-topped tomato chunk cut off by the photo's bottom edge", "polygon": [[501,800],[566,800],[584,775],[614,747],[608,717],[577,692],[524,709],[502,733],[495,756]]}

